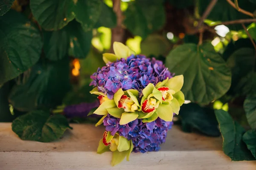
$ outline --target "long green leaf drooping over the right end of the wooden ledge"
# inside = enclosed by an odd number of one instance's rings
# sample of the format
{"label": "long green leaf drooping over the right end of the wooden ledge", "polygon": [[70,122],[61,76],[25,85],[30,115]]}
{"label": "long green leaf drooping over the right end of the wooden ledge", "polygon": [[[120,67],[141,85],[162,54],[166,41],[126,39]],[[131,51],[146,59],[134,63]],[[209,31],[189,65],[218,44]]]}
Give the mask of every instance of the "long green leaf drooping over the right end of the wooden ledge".
{"label": "long green leaf drooping over the right end of the wooden ledge", "polygon": [[255,160],[246,144],[242,141],[242,135],[245,132],[244,128],[235,122],[232,117],[223,110],[216,110],[221,134],[223,138],[223,151],[231,158],[232,161],[250,161]]}

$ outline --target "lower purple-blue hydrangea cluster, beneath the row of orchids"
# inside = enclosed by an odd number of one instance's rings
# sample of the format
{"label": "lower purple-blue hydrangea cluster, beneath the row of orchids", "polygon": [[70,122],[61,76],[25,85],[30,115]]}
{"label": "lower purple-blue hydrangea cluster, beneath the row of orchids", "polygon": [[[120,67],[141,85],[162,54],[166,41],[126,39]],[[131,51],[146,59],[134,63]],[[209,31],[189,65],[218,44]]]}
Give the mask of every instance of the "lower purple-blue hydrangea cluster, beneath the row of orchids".
{"label": "lower purple-blue hydrangea cluster, beneath the row of orchids", "polygon": [[145,153],[148,151],[158,151],[160,144],[165,142],[167,131],[172,128],[172,122],[166,122],[160,118],[150,123],[143,123],[141,119],[136,119],[126,125],[119,124],[120,119],[107,115],[103,120],[107,131],[111,135],[116,132],[120,136],[132,140],[134,152]]}

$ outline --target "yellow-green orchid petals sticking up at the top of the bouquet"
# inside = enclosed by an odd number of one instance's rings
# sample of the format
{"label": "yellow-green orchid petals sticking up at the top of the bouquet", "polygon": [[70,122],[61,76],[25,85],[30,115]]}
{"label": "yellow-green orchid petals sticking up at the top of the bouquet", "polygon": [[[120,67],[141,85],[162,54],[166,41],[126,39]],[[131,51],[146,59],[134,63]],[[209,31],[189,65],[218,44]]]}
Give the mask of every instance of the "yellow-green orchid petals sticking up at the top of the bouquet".
{"label": "yellow-green orchid petals sticking up at the top of the bouquet", "polygon": [[131,56],[131,54],[135,54],[128,46],[122,44],[121,42],[113,43],[113,50],[115,54],[112,53],[104,53],[103,60],[105,63],[114,62],[116,59],[127,58]]}

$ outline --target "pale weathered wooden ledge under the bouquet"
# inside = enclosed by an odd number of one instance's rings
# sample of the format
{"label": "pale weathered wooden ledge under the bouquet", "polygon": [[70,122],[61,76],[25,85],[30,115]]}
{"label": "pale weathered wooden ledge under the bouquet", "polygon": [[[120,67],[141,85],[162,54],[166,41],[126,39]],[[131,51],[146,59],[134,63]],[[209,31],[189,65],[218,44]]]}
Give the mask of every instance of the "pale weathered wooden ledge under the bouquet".
{"label": "pale weathered wooden ledge under the bouquet", "polygon": [[97,154],[103,127],[71,125],[63,139],[23,141],[10,123],[0,123],[0,170],[256,170],[256,161],[234,162],[221,150],[222,139],[169,131],[159,152],[131,153],[130,161],[111,167],[111,153]]}

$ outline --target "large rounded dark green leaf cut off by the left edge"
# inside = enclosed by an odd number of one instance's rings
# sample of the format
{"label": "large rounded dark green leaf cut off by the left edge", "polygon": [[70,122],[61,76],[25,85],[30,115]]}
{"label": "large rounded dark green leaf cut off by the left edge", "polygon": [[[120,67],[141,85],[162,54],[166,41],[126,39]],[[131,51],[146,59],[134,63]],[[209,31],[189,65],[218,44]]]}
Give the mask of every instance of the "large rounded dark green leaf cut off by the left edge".
{"label": "large rounded dark green leaf cut off by the left edge", "polygon": [[0,17],[0,40],[0,84],[3,84],[34,65],[43,44],[36,26],[13,10]]}

